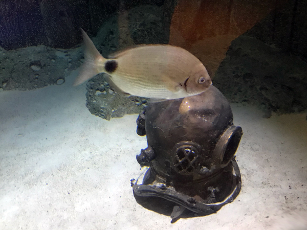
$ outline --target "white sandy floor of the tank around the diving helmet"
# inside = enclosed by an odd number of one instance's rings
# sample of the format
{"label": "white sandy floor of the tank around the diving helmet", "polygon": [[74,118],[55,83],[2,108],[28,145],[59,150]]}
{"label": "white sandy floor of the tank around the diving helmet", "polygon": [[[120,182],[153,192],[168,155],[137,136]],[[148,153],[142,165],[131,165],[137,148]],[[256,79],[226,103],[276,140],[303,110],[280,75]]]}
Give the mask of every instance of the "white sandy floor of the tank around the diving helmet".
{"label": "white sandy floor of the tank around the diving helmet", "polygon": [[[73,73],[72,75],[74,75]],[[148,211],[130,179],[146,137],[137,114],[103,120],[85,84],[0,92],[0,229],[307,229],[306,114],[262,118],[232,105],[244,136],[243,186],[217,214],[180,219]],[[291,187],[291,188],[290,188]]]}

